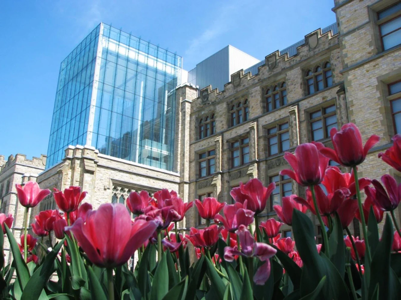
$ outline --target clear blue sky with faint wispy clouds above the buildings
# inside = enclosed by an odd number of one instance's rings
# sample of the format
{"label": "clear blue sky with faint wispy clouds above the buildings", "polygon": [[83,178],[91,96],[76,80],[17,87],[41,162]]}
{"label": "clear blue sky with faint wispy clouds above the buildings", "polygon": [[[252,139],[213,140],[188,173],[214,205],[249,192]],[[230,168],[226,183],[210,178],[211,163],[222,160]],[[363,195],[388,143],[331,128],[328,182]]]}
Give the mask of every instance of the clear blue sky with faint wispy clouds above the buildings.
{"label": "clear blue sky with faint wispy clouds above the buildings", "polygon": [[231,44],[262,60],[336,21],[333,0],[1,1],[0,154],[47,153],[61,61],[101,21],[184,58]]}

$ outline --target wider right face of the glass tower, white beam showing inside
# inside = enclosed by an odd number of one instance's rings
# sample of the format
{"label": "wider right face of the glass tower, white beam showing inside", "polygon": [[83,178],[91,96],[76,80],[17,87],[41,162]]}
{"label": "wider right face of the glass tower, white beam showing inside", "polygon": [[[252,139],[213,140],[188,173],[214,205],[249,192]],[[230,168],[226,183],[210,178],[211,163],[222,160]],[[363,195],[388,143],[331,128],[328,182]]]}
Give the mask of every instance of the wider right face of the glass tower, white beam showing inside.
{"label": "wider right face of the glass tower, white beam showing inside", "polygon": [[105,24],[99,47],[90,144],[106,155],[172,171],[182,58]]}

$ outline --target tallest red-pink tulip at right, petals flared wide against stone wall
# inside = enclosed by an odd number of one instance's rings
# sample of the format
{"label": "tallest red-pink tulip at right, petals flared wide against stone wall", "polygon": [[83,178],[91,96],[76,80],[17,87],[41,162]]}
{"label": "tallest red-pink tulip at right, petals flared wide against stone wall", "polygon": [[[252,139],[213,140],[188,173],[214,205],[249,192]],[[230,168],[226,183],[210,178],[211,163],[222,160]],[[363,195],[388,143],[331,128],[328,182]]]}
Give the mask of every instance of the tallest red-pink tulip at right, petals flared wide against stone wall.
{"label": "tallest red-pink tulip at right, petals flared wide against stone wall", "polygon": [[368,151],[380,140],[378,135],[372,135],[363,146],[360,131],[353,123],[343,125],[338,132],[336,128],[332,128],[330,136],[334,150],[323,148],[320,149],[320,152],[346,167],[354,167],[363,163]]}

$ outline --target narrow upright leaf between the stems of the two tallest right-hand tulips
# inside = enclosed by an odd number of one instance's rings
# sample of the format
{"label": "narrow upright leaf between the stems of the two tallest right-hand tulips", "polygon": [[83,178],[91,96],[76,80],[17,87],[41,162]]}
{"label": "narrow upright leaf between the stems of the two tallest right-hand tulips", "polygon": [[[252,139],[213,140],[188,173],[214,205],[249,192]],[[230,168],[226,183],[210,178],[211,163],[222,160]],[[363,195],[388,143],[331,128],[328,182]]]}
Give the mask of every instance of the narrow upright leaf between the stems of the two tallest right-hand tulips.
{"label": "narrow upright leaf between the stems of the two tallest right-hand tulips", "polygon": [[330,261],[334,264],[336,269],[344,278],[345,274],[345,244],[344,244],[344,234],[342,230],[341,220],[336,213],[333,219],[333,230],[331,232],[328,244],[330,247]]}

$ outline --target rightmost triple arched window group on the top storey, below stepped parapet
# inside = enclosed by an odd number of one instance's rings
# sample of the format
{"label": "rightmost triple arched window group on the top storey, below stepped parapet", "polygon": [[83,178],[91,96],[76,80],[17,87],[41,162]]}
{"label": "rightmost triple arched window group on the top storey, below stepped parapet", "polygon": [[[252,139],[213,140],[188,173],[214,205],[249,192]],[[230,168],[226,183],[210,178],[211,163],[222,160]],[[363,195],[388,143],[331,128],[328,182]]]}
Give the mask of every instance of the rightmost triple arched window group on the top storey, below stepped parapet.
{"label": "rightmost triple arched window group on the top storey, below stepped parapet", "polygon": [[314,71],[306,70],[305,81],[308,95],[333,85],[330,62],[323,62],[314,67]]}

